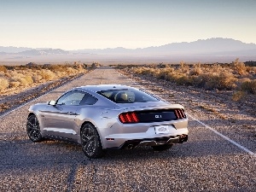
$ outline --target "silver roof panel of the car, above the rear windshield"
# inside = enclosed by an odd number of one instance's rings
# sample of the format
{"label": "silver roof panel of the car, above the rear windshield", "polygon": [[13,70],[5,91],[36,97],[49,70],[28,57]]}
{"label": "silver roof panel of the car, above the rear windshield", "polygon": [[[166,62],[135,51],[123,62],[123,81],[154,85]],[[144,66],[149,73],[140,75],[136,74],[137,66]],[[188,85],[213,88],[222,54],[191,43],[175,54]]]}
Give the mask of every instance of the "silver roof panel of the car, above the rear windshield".
{"label": "silver roof panel of the car, above the rear windshield", "polygon": [[97,92],[101,90],[127,90],[127,89],[135,89],[135,88],[126,86],[123,84],[98,84],[98,85],[86,85],[86,86],[73,88],[73,90],[90,90],[92,92]]}

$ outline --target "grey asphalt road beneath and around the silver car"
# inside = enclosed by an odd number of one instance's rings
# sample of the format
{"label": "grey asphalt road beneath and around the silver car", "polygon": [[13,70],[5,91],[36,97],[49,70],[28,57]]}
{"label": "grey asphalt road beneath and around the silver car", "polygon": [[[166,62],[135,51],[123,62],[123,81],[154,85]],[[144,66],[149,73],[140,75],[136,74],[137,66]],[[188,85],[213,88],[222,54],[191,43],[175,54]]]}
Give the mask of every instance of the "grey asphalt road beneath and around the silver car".
{"label": "grey asphalt road beneath and around the silver car", "polygon": [[0,191],[256,191],[255,156],[195,119],[189,142],[166,152],[113,150],[99,160],[87,159],[78,145],[26,137],[30,105],[86,84],[135,85],[102,67],[0,118]]}

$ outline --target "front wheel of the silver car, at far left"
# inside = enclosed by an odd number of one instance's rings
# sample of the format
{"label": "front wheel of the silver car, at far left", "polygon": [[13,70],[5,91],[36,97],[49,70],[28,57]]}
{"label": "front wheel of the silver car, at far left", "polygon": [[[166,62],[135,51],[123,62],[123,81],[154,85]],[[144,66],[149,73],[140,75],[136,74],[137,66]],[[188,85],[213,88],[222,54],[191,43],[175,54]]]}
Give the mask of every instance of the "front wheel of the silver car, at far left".
{"label": "front wheel of the silver car, at far left", "polygon": [[30,140],[32,140],[32,142],[34,143],[43,141],[38,118],[34,114],[32,114],[27,118],[26,134],[30,138]]}

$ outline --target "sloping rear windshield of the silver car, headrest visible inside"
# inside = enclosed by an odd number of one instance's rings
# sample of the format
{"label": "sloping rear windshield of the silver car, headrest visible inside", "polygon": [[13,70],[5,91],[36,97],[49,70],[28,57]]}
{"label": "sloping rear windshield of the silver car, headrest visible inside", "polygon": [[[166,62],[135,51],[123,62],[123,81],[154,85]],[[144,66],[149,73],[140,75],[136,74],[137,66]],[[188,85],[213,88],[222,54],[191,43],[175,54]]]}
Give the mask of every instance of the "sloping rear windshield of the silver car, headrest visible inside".
{"label": "sloping rear windshield of the silver car, headrest visible inside", "polygon": [[101,91],[98,91],[97,93],[117,103],[158,102],[159,101],[154,96],[150,96],[141,90],[101,90]]}

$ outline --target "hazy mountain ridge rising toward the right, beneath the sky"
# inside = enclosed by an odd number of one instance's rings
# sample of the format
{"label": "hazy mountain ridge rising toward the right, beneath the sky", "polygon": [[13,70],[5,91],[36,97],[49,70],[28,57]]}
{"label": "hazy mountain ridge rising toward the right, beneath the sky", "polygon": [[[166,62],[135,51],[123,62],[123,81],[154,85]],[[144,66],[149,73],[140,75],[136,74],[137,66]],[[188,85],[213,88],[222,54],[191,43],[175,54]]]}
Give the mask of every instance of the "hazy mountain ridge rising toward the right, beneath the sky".
{"label": "hazy mountain ridge rising toward the right, beneath the sky", "polygon": [[[195,42],[187,43],[172,43],[165,44],[158,47],[125,49],[122,47],[114,49],[79,49],[72,51],[73,53],[95,53],[95,54],[113,54],[113,53],[143,53],[143,54],[196,54],[196,53],[218,53],[218,52],[232,52],[232,51],[247,51],[256,50],[256,44],[245,44],[241,41],[232,38],[208,38],[205,40],[197,40]],[[256,53],[255,53],[256,54]]]}

